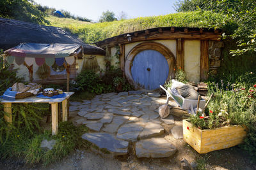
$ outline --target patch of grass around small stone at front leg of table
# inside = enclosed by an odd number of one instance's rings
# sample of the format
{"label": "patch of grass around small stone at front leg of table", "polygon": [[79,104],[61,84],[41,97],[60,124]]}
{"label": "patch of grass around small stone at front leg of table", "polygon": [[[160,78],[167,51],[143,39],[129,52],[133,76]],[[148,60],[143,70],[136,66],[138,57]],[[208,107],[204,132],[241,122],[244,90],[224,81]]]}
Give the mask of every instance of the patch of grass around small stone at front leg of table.
{"label": "patch of grass around small stone at front leg of table", "polygon": [[[42,163],[47,165],[62,159],[69,153],[74,152],[76,148],[87,145],[86,141],[81,138],[82,134],[87,131],[88,128],[84,125],[76,127],[71,122],[61,122],[59,132],[56,136],[51,136],[51,131],[38,134],[31,140],[30,145],[26,148],[26,163]],[[54,139],[56,140],[56,145],[54,145],[52,150],[40,148],[43,139]]]}

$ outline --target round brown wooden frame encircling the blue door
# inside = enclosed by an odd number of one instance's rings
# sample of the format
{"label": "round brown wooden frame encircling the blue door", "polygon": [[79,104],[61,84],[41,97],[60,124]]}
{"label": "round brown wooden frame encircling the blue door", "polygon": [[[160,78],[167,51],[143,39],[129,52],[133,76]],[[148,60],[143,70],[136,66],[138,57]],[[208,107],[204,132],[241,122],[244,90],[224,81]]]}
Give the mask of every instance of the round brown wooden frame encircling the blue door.
{"label": "round brown wooden frame encircling the blue door", "polygon": [[140,43],[140,44],[134,46],[134,48],[132,48],[132,50],[128,53],[128,55],[125,59],[125,76],[126,76],[127,80],[129,81],[129,83],[134,85],[135,89],[139,89],[140,87],[138,87],[138,85],[136,85],[136,82],[132,78],[132,74],[131,74],[132,62],[134,60],[134,57],[138,53],[140,53],[141,51],[144,51],[144,50],[156,50],[157,52],[161,53],[165,57],[165,59],[167,60],[168,66],[169,66],[169,74],[168,74],[168,78],[166,81],[170,80],[170,76],[172,78],[175,77],[176,59],[175,59],[173,53],[169,50],[169,48],[167,48],[166,46],[164,46],[161,43],[157,43],[157,42],[153,42],[153,41]]}

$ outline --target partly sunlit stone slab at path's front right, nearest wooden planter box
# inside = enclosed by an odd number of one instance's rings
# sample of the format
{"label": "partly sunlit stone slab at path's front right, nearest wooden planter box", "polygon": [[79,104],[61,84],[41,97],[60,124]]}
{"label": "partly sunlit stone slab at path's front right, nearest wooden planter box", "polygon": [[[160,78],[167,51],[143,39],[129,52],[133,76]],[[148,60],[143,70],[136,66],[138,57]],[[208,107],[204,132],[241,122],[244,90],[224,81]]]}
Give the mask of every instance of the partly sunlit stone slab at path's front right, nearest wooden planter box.
{"label": "partly sunlit stone slab at path's front right, nearest wooden planter box", "polygon": [[138,158],[163,158],[172,156],[177,148],[164,138],[151,138],[138,141],[135,150]]}

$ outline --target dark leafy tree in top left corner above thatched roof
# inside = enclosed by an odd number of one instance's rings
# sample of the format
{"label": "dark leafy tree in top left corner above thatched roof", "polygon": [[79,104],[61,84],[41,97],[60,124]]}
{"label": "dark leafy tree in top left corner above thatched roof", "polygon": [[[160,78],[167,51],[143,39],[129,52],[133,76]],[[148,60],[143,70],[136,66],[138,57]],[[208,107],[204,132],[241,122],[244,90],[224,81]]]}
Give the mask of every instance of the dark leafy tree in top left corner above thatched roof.
{"label": "dark leafy tree in top left corner above thatched roof", "polygon": [[33,1],[1,0],[0,17],[33,22],[35,24],[49,24],[45,19],[46,13],[38,10]]}

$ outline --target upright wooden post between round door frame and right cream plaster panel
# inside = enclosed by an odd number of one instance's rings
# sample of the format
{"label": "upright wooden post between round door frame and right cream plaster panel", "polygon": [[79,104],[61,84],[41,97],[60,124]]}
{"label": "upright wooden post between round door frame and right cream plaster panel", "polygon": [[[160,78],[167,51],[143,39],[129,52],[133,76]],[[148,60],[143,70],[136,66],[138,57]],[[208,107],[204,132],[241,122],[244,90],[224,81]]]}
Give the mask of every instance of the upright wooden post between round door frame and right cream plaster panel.
{"label": "upright wooden post between round door frame and right cream plaster panel", "polygon": [[184,71],[184,39],[177,39],[176,41],[176,60],[177,68]]}

